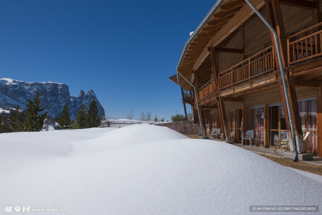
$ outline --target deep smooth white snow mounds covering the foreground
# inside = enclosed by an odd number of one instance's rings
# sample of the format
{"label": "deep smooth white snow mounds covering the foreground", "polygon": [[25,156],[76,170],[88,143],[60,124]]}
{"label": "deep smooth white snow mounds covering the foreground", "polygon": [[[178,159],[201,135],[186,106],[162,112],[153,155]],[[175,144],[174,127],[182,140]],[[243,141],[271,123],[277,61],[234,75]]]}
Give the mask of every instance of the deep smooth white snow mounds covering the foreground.
{"label": "deep smooth white snow mounds covering the foreground", "polygon": [[0,214],[24,214],[5,206],[67,209],[52,214],[250,214],[250,205],[321,202],[321,176],[166,127],[0,134]]}

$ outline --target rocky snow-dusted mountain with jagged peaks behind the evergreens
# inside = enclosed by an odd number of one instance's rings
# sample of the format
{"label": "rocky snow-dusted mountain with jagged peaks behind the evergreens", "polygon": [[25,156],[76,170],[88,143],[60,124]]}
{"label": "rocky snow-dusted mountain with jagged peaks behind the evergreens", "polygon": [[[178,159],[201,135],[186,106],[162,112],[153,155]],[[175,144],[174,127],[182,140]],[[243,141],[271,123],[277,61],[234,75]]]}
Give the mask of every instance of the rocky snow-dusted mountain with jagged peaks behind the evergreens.
{"label": "rocky snow-dusted mountain with jagged peaks behind the evergreens", "polygon": [[48,111],[49,115],[55,117],[61,112],[65,103],[71,111],[71,118],[76,117],[79,106],[84,103],[89,108],[91,101],[96,100],[99,114],[105,116],[105,111],[99,103],[92,89],[85,92],[81,90],[78,97],[71,96],[68,85],[64,83],[49,82],[23,82],[9,78],[0,79],[0,104],[6,107],[14,107],[17,104],[24,110],[28,99],[33,100],[39,92],[42,106]]}

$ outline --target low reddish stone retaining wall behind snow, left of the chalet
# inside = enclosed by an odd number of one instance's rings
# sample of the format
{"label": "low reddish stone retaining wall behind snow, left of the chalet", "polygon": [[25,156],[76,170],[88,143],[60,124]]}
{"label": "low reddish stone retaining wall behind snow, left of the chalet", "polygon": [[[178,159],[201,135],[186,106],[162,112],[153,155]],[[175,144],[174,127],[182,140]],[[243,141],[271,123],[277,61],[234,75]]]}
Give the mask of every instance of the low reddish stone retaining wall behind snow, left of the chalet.
{"label": "low reddish stone retaining wall behind snow, left of the chalet", "polygon": [[[182,134],[199,134],[199,125],[196,123],[189,121],[183,121],[183,122],[165,122],[160,124],[155,124],[158,126],[165,126],[168,128],[171,128],[172,130],[175,130]],[[206,124],[206,128],[209,128],[209,124]]]}

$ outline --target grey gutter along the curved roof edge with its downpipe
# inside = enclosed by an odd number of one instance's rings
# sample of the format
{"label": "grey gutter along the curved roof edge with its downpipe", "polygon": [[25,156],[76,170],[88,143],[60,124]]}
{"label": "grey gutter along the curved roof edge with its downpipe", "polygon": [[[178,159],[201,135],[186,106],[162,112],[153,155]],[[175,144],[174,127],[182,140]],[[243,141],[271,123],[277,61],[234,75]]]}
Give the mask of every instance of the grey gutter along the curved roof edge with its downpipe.
{"label": "grey gutter along the curved roof edge with its downpipe", "polygon": [[[187,51],[187,48],[189,46],[189,44],[194,40],[194,38],[199,34],[199,32],[201,31],[201,29],[205,26],[205,24],[209,21],[209,19],[211,18],[211,16],[216,12],[216,10],[220,7],[220,5],[223,3],[224,0],[217,0],[216,3],[213,5],[213,7],[210,9],[210,11],[208,12],[208,14],[204,17],[203,21],[198,25],[198,27],[196,28],[196,30],[194,30],[194,33],[189,37],[189,39],[187,40],[187,42],[185,43],[185,46],[181,52],[181,56],[179,59],[179,62],[177,64],[177,67],[175,68],[176,73],[177,73],[177,82],[179,83],[179,85],[182,87],[182,89],[185,89],[182,84],[180,83],[180,78],[179,78],[179,74],[194,88],[194,95],[196,97],[197,100],[197,91],[195,86],[189,82],[181,73],[179,73],[179,67],[180,64],[183,61],[183,58],[185,56],[185,52]],[[200,112],[199,112],[199,104],[198,104],[198,100],[197,100],[197,109],[198,109],[198,116],[199,116],[199,122],[200,122],[200,129],[201,129],[201,135],[202,135],[202,139],[204,139],[204,131],[202,129],[202,125],[201,125],[201,117],[200,117]]]}

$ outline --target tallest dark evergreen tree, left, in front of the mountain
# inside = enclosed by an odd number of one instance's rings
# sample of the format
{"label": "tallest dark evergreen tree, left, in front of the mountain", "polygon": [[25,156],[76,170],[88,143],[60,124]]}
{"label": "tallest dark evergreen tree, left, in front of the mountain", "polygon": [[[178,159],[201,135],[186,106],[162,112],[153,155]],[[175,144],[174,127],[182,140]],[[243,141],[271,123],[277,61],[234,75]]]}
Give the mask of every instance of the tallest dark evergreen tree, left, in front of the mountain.
{"label": "tallest dark evergreen tree, left, in front of the mountain", "polygon": [[27,132],[39,132],[43,130],[47,112],[43,112],[44,108],[40,105],[41,99],[39,97],[39,92],[37,92],[34,101],[28,99],[28,104],[26,104],[27,108],[25,110],[24,125],[25,131]]}

